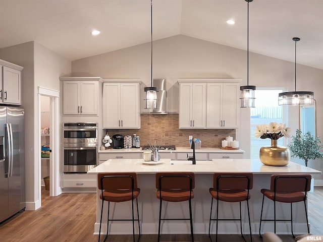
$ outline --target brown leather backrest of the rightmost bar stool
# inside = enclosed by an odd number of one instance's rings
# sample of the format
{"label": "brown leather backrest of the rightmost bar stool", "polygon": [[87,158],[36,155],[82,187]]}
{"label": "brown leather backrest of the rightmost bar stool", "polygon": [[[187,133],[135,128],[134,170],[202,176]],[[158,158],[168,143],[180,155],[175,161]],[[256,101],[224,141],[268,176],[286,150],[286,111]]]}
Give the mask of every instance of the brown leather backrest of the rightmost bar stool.
{"label": "brown leather backrest of the rightmost bar stool", "polygon": [[308,192],[311,177],[310,174],[273,174],[271,190],[278,193]]}

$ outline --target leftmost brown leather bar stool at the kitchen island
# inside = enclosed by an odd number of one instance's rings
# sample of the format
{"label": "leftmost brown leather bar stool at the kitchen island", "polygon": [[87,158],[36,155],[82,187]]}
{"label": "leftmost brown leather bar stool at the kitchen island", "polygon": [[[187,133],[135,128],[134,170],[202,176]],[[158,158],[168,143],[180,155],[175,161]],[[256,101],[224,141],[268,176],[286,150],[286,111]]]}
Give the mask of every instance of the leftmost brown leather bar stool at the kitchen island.
{"label": "leftmost brown leather bar stool at the kitchen island", "polygon": [[[109,221],[132,221],[133,241],[135,242],[135,222],[138,221],[139,237],[140,239],[140,223],[139,223],[139,211],[138,211],[138,196],[140,189],[137,188],[137,174],[134,172],[125,173],[98,173],[98,189],[101,190],[100,199],[102,199],[101,217],[100,217],[100,229],[99,238],[101,235],[102,213],[104,201],[108,202],[107,205],[107,228],[106,235],[103,241],[107,238],[109,233]],[[136,199],[137,203],[137,219],[134,218],[133,200]],[[110,219],[110,202],[126,202],[132,201],[132,219]]]}

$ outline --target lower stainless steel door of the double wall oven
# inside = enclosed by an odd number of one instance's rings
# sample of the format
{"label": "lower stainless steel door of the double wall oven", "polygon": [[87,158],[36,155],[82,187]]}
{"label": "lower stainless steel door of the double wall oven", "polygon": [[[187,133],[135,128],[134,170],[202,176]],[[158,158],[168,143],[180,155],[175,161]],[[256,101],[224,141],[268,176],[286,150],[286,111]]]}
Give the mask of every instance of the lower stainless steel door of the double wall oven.
{"label": "lower stainless steel door of the double wall oven", "polygon": [[97,146],[63,147],[64,173],[86,173],[97,165]]}

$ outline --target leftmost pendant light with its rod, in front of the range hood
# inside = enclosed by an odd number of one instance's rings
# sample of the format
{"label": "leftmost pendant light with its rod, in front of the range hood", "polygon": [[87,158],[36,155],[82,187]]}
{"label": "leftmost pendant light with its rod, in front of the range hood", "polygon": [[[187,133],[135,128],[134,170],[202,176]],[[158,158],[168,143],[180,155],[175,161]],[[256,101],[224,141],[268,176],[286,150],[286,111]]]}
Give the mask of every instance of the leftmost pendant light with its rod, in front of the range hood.
{"label": "leftmost pendant light with its rod, in front of the range hood", "polygon": [[152,86],[152,0],[150,0],[150,49],[151,49],[151,70],[150,70],[150,81],[151,86],[145,87],[146,92],[146,107],[145,108],[157,108],[157,88]]}

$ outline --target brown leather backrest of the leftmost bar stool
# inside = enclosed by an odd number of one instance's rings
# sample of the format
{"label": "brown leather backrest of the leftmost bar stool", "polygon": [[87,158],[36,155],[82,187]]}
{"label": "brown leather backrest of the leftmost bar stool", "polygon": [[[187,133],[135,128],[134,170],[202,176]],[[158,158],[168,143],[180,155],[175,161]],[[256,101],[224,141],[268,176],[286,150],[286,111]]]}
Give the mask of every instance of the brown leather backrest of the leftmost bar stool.
{"label": "brown leather backrest of the leftmost bar stool", "polygon": [[98,173],[97,181],[100,190],[137,189],[135,172]]}

